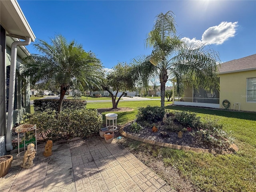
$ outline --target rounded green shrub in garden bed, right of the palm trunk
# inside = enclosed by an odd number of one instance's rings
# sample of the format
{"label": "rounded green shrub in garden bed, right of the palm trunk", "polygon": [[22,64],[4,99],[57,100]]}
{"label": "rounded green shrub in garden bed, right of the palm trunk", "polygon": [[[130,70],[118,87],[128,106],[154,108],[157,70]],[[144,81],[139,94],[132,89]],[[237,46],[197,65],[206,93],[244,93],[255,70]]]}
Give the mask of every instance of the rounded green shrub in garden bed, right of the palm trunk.
{"label": "rounded green shrub in garden bed, right of the palm trunk", "polygon": [[187,111],[175,112],[174,121],[182,124],[184,127],[199,128],[201,125],[200,117],[197,117],[195,113]]}

